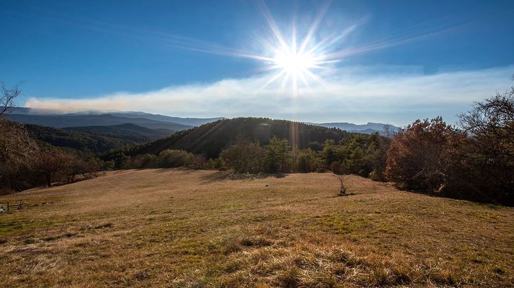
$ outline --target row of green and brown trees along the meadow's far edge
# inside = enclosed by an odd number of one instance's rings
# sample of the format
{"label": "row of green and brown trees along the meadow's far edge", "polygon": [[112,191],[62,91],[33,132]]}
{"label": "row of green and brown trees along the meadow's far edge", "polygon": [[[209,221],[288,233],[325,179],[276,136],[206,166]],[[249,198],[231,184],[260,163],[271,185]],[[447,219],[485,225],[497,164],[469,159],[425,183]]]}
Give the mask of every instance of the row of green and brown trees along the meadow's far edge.
{"label": "row of green and brown trees along the meadow's far edge", "polygon": [[266,145],[237,136],[217,158],[208,160],[181,149],[164,149],[157,155],[125,156],[120,153],[114,167],[120,169],[190,167],[234,170],[238,173],[309,173],[336,171],[383,180],[384,159],[390,140],[376,134],[349,134],[336,143],[312,142],[301,149],[288,139],[271,137]]}

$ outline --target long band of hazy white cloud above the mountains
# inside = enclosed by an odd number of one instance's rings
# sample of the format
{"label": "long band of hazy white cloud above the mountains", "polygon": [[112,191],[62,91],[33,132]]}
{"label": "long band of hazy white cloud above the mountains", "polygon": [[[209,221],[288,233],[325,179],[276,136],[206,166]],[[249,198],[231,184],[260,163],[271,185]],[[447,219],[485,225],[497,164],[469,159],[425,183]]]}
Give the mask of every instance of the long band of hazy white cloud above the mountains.
{"label": "long band of hazy white cloud above the mountains", "polygon": [[[416,67],[352,67],[326,72],[297,93],[269,75],[208,84],[170,86],[145,93],[82,99],[32,97],[30,108],[77,112],[132,110],[180,117],[259,116],[299,121],[380,121],[404,125],[417,118],[454,115],[473,101],[511,86],[514,66],[424,75]],[[265,86],[265,87],[263,87]],[[297,94],[297,95],[294,95]]]}

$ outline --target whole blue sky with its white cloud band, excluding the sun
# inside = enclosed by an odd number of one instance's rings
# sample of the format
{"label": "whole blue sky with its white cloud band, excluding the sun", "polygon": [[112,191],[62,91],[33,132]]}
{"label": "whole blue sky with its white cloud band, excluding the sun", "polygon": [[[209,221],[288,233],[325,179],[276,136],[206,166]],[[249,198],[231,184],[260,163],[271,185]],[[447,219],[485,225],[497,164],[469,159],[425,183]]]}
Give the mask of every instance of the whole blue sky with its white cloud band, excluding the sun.
{"label": "whole blue sky with its white cloud band, excluding the sun", "polygon": [[[266,12],[288,43],[321,19],[310,45],[347,34],[319,53],[359,52],[309,69],[323,85],[267,85],[280,69],[241,56],[274,57]],[[514,1],[2,0],[0,80],[24,82],[19,105],[63,112],[452,122],[511,86],[513,13]]]}

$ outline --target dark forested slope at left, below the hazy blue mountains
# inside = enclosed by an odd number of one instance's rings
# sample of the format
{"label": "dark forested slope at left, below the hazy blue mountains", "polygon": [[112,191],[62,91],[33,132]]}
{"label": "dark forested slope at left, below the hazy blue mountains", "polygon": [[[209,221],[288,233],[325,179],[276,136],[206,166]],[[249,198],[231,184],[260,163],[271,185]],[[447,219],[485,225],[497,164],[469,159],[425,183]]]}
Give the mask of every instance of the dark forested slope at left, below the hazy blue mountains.
{"label": "dark forested slope at left, below the hazy blue mountains", "polygon": [[[105,126],[108,127],[108,126]],[[136,143],[146,143],[158,136],[143,134],[110,134],[93,130],[72,131],[40,125],[26,124],[25,128],[32,139],[49,143],[56,147],[68,147],[86,153],[102,153],[110,149],[120,149]],[[109,130],[107,128],[107,130]],[[112,128],[117,130],[117,128]]]}

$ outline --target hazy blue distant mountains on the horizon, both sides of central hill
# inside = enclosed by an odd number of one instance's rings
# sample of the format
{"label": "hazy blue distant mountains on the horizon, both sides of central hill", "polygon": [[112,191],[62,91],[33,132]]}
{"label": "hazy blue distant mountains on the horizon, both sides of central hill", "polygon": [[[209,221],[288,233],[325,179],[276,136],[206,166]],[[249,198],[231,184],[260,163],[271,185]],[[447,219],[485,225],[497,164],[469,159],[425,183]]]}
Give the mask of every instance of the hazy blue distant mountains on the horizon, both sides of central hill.
{"label": "hazy blue distant mountains on the horizon, both sides of central hill", "polygon": [[[158,134],[171,134],[173,132],[187,130],[193,127],[204,125],[206,123],[218,121],[224,119],[223,117],[217,118],[180,118],[180,117],[169,117],[165,115],[156,115],[146,112],[123,112],[123,111],[84,111],[75,112],[68,114],[57,114],[48,111],[33,110],[31,108],[14,108],[7,115],[11,121],[16,121],[26,124],[35,124],[42,126],[49,126],[53,128],[79,128],[73,129],[75,131],[96,131],[114,133],[124,133],[122,130],[125,128],[120,127],[124,124],[132,124],[140,126],[140,128],[148,128],[151,130],[158,130],[145,133],[149,133],[154,137]],[[384,123],[366,123],[362,125],[346,123],[346,122],[334,122],[334,123],[306,123],[310,125],[319,125],[326,128],[339,128],[347,132],[358,132],[371,134],[374,132],[383,133],[384,127],[388,126],[391,131],[395,132],[399,128],[393,125]],[[86,127],[84,127],[86,126]],[[104,126],[117,126],[114,128],[101,128]],[[93,128],[94,127],[94,128]],[[110,132],[108,131],[110,130]],[[116,130],[116,132],[113,132]],[[125,129],[125,133],[136,132],[134,126],[129,129]],[[130,134],[132,135],[132,134]]]}

